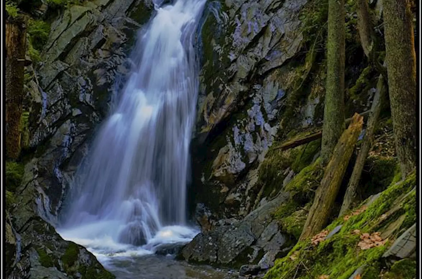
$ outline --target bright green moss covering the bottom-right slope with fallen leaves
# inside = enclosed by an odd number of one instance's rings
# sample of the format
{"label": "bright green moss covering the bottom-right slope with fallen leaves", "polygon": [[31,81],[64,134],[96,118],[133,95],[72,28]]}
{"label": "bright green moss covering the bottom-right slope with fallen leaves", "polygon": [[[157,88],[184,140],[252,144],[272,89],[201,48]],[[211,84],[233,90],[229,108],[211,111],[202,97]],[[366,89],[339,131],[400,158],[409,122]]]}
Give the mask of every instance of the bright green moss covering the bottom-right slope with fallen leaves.
{"label": "bright green moss covering the bottom-right slope with fallen leaves", "polygon": [[[298,242],[286,257],[276,260],[275,266],[268,271],[265,278],[315,279],[321,275],[328,275],[330,278],[347,279],[357,268],[364,265],[362,278],[379,278],[382,271],[380,258],[388,248],[389,242],[361,250],[357,246],[360,241],[359,233],[372,233],[385,228],[388,223],[394,222],[398,216],[406,213],[408,220],[390,236],[390,239],[394,239],[398,236],[398,232],[403,232],[416,221],[414,214],[416,192],[413,189],[416,185],[416,175],[413,173],[398,183],[394,180],[364,212],[348,220],[339,218],[329,225],[327,227],[329,231],[338,225],[343,225],[341,230],[329,239],[323,240],[317,246],[312,245],[309,240]],[[395,208],[400,209],[387,216],[385,220],[381,217]],[[360,232],[354,233],[354,230]],[[416,274],[414,268],[414,261],[402,260],[396,262],[390,271],[384,274],[386,276],[384,278],[411,279]]]}

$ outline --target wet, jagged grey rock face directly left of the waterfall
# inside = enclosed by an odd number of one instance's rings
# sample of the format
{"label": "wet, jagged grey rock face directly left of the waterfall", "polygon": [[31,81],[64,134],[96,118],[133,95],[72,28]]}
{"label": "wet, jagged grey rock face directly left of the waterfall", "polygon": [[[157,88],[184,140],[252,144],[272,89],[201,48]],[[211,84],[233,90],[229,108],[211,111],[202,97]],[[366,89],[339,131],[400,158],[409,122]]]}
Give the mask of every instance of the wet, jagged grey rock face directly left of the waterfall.
{"label": "wet, jagged grey rock face directly left of the waterfall", "polygon": [[51,24],[42,62],[27,69],[34,78],[26,87],[26,147],[38,158],[38,211],[52,224],[94,129],[130,70],[128,50],[151,11],[149,0],[73,5]]}

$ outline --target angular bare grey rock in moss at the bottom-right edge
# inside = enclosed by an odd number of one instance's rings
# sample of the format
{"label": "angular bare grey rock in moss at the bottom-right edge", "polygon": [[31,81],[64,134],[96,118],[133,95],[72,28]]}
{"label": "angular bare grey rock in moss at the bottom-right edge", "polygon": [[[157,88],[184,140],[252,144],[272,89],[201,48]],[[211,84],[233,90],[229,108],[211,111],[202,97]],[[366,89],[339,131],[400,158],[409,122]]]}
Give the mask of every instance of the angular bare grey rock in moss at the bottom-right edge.
{"label": "angular bare grey rock in moss at the bottom-right edge", "polygon": [[401,236],[398,237],[382,255],[384,258],[395,256],[398,258],[409,258],[415,255],[416,251],[416,223],[408,228]]}

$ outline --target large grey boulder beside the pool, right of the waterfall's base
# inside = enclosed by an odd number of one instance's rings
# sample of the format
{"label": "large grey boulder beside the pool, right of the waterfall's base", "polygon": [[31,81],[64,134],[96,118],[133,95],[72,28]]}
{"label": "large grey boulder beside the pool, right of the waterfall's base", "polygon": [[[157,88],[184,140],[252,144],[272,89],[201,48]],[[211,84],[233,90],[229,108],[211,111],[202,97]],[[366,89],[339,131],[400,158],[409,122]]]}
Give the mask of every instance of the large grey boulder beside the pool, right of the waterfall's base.
{"label": "large grey boulder beside the pool, right of the waterfall's base", "polygon": [[182,249],[181,256],[191,262],[239,266],[259,262],[257,256],[262,250],[267,253],[262,266],[271,265],[285,243],[271,213],[287,198],[287,194],[280,193],[233,225],[199,233]]}

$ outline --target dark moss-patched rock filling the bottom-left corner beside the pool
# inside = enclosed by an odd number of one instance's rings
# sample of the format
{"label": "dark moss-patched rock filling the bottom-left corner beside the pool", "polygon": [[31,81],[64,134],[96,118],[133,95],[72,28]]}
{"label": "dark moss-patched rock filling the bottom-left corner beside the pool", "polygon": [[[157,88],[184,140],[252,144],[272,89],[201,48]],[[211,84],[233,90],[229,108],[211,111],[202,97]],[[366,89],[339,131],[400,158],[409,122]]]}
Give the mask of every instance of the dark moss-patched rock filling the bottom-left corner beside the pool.
{"label": "dark moss-patched rock filling the bottom-left corner beside the pool", "polygon": [[[17,206],[11,209],[13,219],[8,227],[8,246],[16,265],[8,269],[9,279],[46,278],[46,279],[113,279],[94,255],[82,246],[65,241],[47,223],[46,212],[37,209],[47,207],[39,204],[47,200],[39,197],[43,193],[38,183],[40,177],[37,159],[25,166],[22,184],[16,189]],[[40,217],[41,216],[41,217]],[[43,218],[42,218],[43,217]]]}

